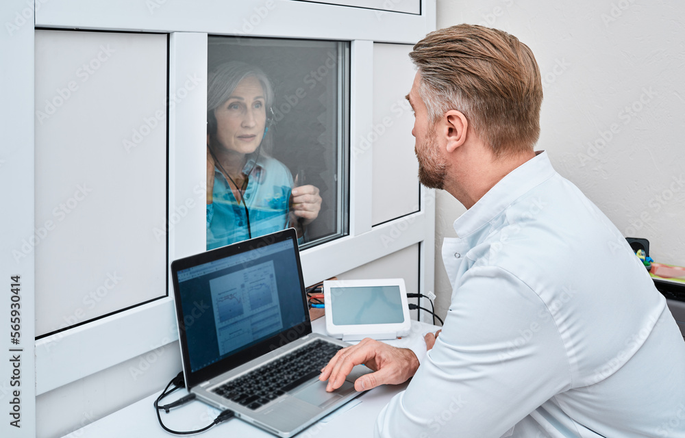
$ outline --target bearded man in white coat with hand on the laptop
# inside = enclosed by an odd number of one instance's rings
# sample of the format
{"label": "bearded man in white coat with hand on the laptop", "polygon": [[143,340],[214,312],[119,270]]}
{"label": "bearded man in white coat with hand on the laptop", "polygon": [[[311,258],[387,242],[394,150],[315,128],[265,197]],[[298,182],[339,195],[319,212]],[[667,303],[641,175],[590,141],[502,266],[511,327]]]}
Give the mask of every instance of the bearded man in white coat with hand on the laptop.
{"label": "bearded man in white coat with hand on the laptop", "polygon": [[443,243],[451,305],[427,352],[365,339],[321,380],[359,363],[375,370],[359,391],[413,377],[378,437],[685,437],[685,342],[619,230],[534,150],[530,49],[459,25],[410,57],[419,179],[467,209]]}

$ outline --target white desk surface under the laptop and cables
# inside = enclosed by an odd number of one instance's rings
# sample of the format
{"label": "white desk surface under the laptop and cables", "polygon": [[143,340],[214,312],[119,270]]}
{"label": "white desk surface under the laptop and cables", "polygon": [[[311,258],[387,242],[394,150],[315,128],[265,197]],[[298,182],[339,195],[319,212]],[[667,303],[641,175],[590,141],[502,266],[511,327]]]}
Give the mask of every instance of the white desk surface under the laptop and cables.
{"label": "white desk surface under the laptop and cables", "polygon": [[[319,318],[312,322],[312,329],[315,332],[325,333],[324,319]],[[423,335],[438,329],[440,328],[425,322],[412,321],[412,333],[408,337],[387,341],[387,343],[398,347],[408,347],[410,345],[424,346]],[[390,398],[405,388],[406,383],[403,385],[384,385],[367,391],[319,422],[312,424],[312,426],[299,433],[297,437],[373,437],[373,427],[381,409],[390,401]],[[160,388],[160,392],[162,389]],[[169,403],[186,394],[185,389],[179,389],[166,398],[164,403]],[[153,402],[158,396],[159,394],[154,394],[144,398],[97,422],[75,430],[67,436],[70,438],[169,438],[172,435],[162,429],[157,420],[157,415],[155,415]],[[170,413],[160,411],[160,415],[164,424],[173,430],[196,430],[210,424],[219,415],[219,411],[203,402],[195,400],[185,404],[183,407],[172,409]],[[227,422],[214,426],[199,436],[206,438],[273,438],[273,435],[237,418],[232,418]]]}

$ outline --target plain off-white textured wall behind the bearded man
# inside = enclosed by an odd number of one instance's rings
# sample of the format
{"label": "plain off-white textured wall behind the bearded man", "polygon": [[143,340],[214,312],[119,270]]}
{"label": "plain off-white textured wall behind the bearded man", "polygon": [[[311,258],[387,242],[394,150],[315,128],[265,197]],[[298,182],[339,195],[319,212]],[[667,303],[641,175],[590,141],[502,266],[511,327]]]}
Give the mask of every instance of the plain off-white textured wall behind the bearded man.
{"label": "plain off-white textured wall behind the bearded man", "polygon": [[[681,266],[684,17],[682,1],[438,0],[436,26],[482,24],[528,44],[545,92],[536,149],[547,150],[556,170],[625,237],[647,238],[651,257]],[[463,211],[454,203],[438,194],[436,289],[443,314],[451,291],[439,246]]]}

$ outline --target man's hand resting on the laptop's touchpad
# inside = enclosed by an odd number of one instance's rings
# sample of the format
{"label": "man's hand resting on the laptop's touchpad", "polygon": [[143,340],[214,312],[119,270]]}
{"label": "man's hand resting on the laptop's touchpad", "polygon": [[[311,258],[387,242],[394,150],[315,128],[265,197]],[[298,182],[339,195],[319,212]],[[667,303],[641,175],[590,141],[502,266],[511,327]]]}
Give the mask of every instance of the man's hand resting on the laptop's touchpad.
{"label": "man's hand resting on the laptop's touchpad", "polygon": [[412,350],[391,347],[367,337],[357,345],[339,350],[323,368],[319,380],[328,380],[326,391],[334,391],[343,385],[352,368],[362,363],[375,372],[357,379],[354,383],[357,391],[366,391],[378,385],[398,385],[414,376],[419,369],[419,359],[416,359]]}

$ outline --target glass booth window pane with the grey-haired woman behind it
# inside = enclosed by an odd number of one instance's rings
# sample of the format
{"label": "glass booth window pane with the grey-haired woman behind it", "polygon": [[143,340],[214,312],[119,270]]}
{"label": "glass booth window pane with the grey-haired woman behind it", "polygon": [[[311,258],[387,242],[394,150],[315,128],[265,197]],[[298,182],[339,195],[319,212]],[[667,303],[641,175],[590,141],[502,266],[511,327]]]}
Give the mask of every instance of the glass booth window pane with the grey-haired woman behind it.
{"label": "glass booth window pane with the grey-haired woman behind it", "polygon": [[349,43],[210,36],[207,249],[347,234]]}

